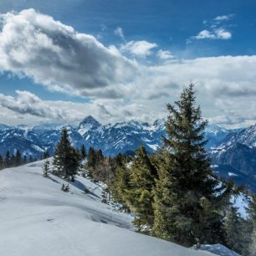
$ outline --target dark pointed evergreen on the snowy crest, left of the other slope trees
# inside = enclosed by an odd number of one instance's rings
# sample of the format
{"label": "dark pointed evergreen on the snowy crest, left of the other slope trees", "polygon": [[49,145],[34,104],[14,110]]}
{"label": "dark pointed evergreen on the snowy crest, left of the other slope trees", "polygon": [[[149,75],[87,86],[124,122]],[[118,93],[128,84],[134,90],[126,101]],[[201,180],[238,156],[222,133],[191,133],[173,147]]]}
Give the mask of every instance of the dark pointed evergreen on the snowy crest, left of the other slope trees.
{"label": "dark pointed evergreen on the snowy crest, left of the other slope trees", "polygon": [[66,128],[61,132],[59,143],[55,148],[53,165],[54,174],[65,179],[73,180],[79,170],[79,156],[71,146]]}

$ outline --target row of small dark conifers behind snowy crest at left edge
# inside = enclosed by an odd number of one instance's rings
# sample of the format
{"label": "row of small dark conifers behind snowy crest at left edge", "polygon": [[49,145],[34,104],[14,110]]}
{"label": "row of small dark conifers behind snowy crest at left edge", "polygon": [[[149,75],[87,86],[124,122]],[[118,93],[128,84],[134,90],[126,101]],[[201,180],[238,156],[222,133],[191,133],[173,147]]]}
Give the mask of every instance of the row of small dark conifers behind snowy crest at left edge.
{"label": "row of small dark conifers behind snowy crest at left edge", "polygon": [[11,154],[10,151],[6,151],[5,156],[0,154],[0,170],[9,167],[22,166],[28,162],[37,161],[37,158],[29,155],[22,155],[18,150],[16,153]]}

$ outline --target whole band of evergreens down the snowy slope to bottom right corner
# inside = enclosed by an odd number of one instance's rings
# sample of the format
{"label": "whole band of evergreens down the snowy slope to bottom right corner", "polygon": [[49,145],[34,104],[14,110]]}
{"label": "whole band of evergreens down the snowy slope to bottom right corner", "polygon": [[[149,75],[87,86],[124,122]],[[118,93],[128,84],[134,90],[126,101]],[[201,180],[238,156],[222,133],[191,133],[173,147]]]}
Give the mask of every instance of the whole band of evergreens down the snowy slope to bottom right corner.
{"label": "whole band of evergreens down the snowy slope to bottom right corner", "polygon": [[[220,182],[207,156],[202,119],[193,84],[180,100],[167,105],[164,146],[149,156],[144,147],[136,156],[105,157],[84,146],[74,149],[66,129],[54,151],[53,172],[74,181],[80,172],[105,182],[104,202],[120,203],[132,212],[138,232],[190,247],[222,243],[241,255],[256,255],[256,197],[242,218],[231,203],[241,189]],[[47,169],[47,168],[46,168]]]}

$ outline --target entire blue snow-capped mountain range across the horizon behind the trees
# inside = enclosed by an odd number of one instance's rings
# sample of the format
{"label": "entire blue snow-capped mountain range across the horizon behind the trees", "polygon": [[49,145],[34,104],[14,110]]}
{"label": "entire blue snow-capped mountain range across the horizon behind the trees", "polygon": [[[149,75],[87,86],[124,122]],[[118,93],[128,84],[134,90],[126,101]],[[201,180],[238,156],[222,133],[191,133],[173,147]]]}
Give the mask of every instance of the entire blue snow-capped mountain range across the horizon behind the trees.
{"label": "entire blue snow-capped mountain range across the horizon behind the trees", "polygon": [[[140,146],[149,153],[161,148],[162,136],[165,136],[165,120],[156,120],[152,124],[136,120],[101,125],[92,116],[87,116],[77,127],[54,123],[41,125],[0,125],[0,153],[6,151],[15,154],[40,158],[44,151],[54,153],[63,127],[67,127],[74,147],[84,144],[101,149],[105,156],[118,153],[133,154]],[[218,125],[207,125],[207,151],[212,158],[215,173],[226,179],[232,178],[238,185],[244,185],[256,192],[256,125],[245,129],[227,130]]]}

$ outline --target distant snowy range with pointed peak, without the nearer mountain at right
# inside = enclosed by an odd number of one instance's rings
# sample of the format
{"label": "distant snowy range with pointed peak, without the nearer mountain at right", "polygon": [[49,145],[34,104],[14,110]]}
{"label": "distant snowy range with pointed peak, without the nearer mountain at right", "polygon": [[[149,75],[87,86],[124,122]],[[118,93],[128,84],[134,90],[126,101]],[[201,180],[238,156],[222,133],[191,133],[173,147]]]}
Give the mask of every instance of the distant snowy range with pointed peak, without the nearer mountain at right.
{"label": "distant snowy range with pointed peak, without the nearer mountain at right", "polygon": [[[161,147],[161,137],[165,136],[165,120],[155,120],[153,124],[136,120],[101,125],[91,115],[82,120],[78,127],[60,124],[41,124],[35,126],[18,125],[10,127],[0,125],[0,152],[11,153],[18,149],[27,156],[39,157],[46,150],[50,154],[59,141],[62,128],[66,126],[72,144],[79,148],[82,144],[88,149],[90,146],[101,149],[107,156],[118,153],[130,153],[140,146],[146,151],[154,152]],[[223,139],[228,131],[217,125],[208,125],[206,135],[209,146],[215,145]]]}

